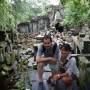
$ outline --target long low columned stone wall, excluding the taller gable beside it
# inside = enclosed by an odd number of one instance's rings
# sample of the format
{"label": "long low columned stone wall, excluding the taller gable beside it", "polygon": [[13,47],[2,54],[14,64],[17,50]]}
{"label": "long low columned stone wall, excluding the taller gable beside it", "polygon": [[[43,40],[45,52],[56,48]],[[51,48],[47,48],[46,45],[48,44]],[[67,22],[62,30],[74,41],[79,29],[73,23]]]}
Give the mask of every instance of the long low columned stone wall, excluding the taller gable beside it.
{"label": "long low columned stone wall, excluding the taller gable beside it", "polygon": [[38,16],[32,18],[29,22],[20,23],[18,32],[20,33],[35,33],[49,28],[49,18],[47,16]]}

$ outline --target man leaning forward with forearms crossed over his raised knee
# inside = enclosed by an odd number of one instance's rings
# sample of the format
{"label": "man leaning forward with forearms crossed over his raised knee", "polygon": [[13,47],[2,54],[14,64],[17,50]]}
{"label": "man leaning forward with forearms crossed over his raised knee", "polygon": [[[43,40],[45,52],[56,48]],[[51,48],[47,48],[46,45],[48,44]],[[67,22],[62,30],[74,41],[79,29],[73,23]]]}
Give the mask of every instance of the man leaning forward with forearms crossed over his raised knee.
{"label": "man leaning forward with forearms crossed over his raised knee", "polygon": [[39,89],[43,90],[43,66],[49,64],[52,71],[55,70],[57,61],[59,60],[59,46],[56,43],[52,43],[50,35],[45,35],[43,38],[43,45],[38,47],[36,61],[37,72],[39,77]]}

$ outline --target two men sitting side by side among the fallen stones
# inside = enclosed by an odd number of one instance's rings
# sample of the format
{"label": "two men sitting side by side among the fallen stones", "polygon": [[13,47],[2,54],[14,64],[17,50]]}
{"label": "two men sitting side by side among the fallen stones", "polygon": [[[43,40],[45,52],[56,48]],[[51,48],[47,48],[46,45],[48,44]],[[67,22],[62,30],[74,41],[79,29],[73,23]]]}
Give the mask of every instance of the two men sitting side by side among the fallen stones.
{"label": "two men sitting side by side among the fallen stones", "polygon": [[44,36],[43,44],[38,47],[36,61],[39,77],[38,90],[45,90],[43,84],[43,67],[49,64],[52,75],[51,79],[56,81],[55,90],[78,90],[76,80],[79,77],[79,70],[76,60],[71,57],[71,47],[69,44],[63,44],[61,48],[56,43],[52,43],[49,35]]}

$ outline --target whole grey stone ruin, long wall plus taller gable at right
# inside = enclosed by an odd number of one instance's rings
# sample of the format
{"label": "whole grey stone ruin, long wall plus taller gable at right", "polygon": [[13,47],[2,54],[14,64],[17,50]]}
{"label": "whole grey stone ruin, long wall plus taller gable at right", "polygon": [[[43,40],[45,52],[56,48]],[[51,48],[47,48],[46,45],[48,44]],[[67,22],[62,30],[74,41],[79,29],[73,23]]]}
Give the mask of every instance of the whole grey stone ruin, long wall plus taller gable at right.
{"label": "whole grey stone ruin, long wall plus taller gable at right", "polygon": [[[17,25],[17,30],[20,33],[36,33],[39,31],[45,31],[50,28],[50,25],[55,22],[57,19],[57,12],[60,14],[59,18],[62,20],[64,18],[63,7],[60,6],[49,6],[47,9],[51,8],[50,11],[47,11],[47,15],[36,16],[28,22],[22,22]],[[51,25],[52,26],[52,25]]]}

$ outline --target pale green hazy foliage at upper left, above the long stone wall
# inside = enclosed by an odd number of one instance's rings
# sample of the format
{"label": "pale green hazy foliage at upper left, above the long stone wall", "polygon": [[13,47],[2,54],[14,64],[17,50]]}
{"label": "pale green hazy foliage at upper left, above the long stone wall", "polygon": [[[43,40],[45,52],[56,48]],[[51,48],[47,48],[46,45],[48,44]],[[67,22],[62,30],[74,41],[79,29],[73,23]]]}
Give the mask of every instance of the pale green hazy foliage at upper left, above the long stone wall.
{"label": "pale green hazy foliage at upper left, above the long stone wall", "polygon": [[33,16],[45,14],[47,1],[37,0],[0,0],[0,30],[14,30],[20,22],[30,20]]}

